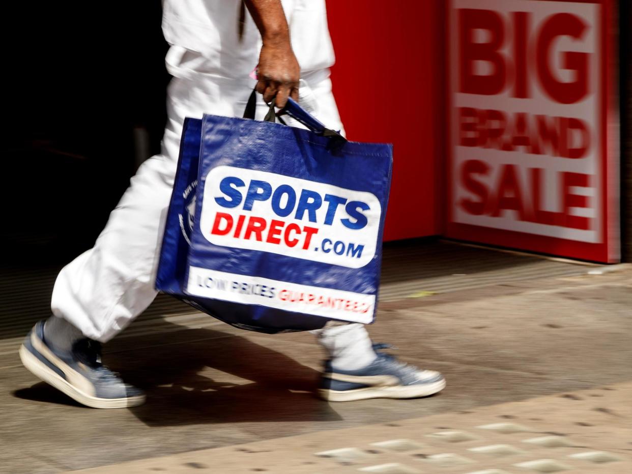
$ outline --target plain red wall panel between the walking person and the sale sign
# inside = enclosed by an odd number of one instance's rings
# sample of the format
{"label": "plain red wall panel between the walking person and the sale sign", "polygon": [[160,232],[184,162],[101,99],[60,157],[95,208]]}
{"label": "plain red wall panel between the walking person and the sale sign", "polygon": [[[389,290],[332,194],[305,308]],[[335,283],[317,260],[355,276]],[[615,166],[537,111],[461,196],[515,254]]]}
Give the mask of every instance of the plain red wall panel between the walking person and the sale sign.
{"label": "plain red wall panel between the walking person and the sale sign", "polygon": [[385,240],[439,234],[442,0],[328,0],[334,95],[348,138],[394,144]]}

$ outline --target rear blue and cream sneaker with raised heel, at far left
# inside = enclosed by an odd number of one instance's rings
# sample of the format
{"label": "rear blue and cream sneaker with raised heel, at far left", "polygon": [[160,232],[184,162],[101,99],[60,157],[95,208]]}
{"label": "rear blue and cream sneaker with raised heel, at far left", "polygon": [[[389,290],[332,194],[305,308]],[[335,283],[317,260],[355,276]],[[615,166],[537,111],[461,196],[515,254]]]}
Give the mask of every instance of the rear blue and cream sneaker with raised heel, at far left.
{"label": "rear blue and cream sneaker with raised heel, at far left", "polygon": [[80,339],[72,351],[54,351],[44,341],[44,321],[35,324],[20,346],[20,359],[39,379],[92,408],[125,408],[145,401],[140,389],[125,384],[100,361],[100,344]]}

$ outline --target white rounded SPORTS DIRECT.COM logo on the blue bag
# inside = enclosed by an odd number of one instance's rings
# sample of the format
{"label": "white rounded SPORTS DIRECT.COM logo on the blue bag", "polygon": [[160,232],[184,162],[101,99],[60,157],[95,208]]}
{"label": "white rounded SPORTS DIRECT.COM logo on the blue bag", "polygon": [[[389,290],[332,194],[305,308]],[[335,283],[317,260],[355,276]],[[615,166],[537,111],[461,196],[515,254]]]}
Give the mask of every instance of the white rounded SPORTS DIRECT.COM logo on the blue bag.
{"label": "white rounded SPORTS DIRECT.COM logo on the blue bag", "polygon": [[232,166],[206,177],[200,229],[214,245],[360,268],[375,255],[372,193]]}

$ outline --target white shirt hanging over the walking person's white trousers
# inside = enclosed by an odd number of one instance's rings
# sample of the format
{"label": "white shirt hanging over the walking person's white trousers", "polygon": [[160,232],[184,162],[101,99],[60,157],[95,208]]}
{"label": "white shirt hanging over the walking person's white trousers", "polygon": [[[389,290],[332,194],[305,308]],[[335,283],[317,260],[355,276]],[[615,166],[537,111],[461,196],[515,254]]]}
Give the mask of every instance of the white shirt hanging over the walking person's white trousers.
{"label": "white shirt hanging over the walking person's white trousers", "polygon": [[[166,62],[172,75],[184,76],[193,68],[228,78],[248,76],[258,63],[261,36],[246,9],[240,40],[241,1],[163,0],[162,32],[171,45]],[[332,66],[325,0],[281,2],[301,73]]]}

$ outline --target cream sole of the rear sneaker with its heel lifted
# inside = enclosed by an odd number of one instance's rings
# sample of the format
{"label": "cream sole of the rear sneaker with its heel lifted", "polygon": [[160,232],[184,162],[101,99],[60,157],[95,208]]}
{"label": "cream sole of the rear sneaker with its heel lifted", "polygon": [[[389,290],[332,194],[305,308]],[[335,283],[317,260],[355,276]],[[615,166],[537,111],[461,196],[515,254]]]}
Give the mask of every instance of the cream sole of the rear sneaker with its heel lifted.
{"label": "cream sole of the rear sneaker with its heel lifted", "polygon": [[63,377],[60,377],[49,367],[46,367],[24,344],[20,346],[20,360],[24,367],[32,372],[35,377],[44,380],[44,382],[64,392],[73,400],[90,408],[129,408],[145,403],[144,395],[129,398],[97,398],[85,394],[69,384],[68,381],[64,380]]}

